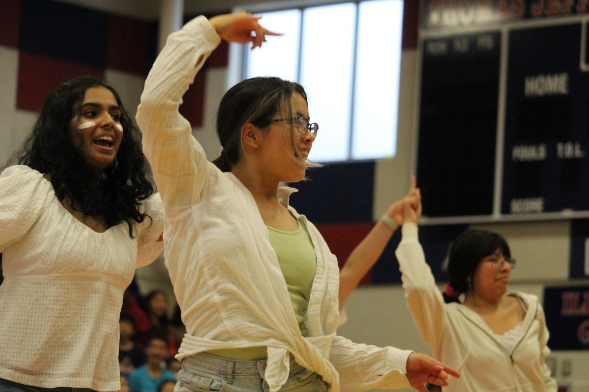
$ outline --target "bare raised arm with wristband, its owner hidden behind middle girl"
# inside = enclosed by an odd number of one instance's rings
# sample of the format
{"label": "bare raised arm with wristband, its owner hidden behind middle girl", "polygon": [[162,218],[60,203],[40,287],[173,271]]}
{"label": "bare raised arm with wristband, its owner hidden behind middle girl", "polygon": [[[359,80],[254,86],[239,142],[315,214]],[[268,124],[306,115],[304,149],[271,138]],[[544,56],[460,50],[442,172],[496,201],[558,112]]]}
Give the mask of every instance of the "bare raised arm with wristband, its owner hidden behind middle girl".
{"label": "bare raised arm with wristband, its owner hidden behind middle girl", "polygon": [[[413,202],[413,207],[417,219],[421,216],[421,195],[416,186],[415,177],[411,177],[411,185],[407,196]],[[419,210],[418,210],[419,209]],[[370,268],[379,259],[386,244],[391,239],[397,226],[403,223],[403,200],[397,200],[389,206],[389,209],[383,215],[376,225],[372,227],[366,237],[354,248],[346,263],[343,264],[339,274],[339,307],[342,309],[343,303],[349,295],[358,286],[362,277],[368,273]]]}

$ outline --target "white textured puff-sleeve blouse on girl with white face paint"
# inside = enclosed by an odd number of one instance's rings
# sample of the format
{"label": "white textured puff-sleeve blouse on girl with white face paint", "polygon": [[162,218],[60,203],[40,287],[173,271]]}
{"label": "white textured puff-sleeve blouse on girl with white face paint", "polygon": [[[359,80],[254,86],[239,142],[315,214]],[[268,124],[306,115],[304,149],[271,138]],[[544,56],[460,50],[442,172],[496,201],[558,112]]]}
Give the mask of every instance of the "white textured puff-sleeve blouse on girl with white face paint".
{"label": "white textured puff-sleeve blouse on girl with white face paint", "polygon": [[[120,387],[118,319],[135,268],[163,248],[159,195],[147,213],[97,233],[55,197],[51,183],[27,166],[0,175],[0,378],[31,386]],[[152,223],[153,221],[153,223]]]}

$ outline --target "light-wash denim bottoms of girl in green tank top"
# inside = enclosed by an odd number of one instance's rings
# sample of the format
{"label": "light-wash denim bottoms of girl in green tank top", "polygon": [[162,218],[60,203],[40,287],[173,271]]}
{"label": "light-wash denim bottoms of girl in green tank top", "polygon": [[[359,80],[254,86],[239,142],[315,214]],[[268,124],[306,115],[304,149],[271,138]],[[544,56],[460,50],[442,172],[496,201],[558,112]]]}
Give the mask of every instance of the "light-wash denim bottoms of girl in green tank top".
{"label": "light-wash denim bottoms of girl in green tank top", "polygon": [[[174,392],[268,392],[264,380],[266,360],[237,361],[199,353],[182,360]],[[314,371],[307,370],[290,356],[290,374],[280,388],[284,392],[327,391],[329,384]]]}

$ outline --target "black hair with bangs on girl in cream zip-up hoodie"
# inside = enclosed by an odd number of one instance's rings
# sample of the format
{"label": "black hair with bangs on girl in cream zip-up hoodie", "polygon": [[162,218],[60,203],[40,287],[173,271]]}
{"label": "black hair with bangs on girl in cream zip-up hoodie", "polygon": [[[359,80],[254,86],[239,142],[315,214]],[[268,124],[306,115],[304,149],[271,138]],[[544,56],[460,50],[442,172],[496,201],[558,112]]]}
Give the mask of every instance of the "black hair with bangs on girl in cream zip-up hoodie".
{"label": "black hair with bangs on girl in cream zip-up hoodie", "polygon": [[[448,251],[449,284],[458,293],[474,289],[473,282],[478,264],[484,257],[499,249],[503,256],[511,257],[511,250],[504,237],[488,230],[466,230],[456,237]],[[459,302],[455,297],[444,293],[446,303]]]}

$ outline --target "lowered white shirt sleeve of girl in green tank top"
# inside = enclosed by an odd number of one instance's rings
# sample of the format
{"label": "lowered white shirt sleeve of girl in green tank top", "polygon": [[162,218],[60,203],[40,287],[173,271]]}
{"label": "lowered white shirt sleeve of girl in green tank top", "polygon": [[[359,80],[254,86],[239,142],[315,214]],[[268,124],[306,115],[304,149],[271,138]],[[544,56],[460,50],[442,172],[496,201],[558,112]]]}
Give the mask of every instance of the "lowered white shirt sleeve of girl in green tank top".
{"label": "lowered white shirt sleeve of girl in green tank top", "polygon": [[353,343],[336,336],[329,361],[339,373],[342,391],[411,388],[405,366],[412,352]]}

